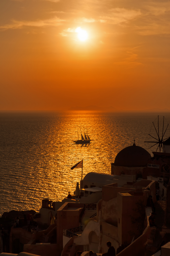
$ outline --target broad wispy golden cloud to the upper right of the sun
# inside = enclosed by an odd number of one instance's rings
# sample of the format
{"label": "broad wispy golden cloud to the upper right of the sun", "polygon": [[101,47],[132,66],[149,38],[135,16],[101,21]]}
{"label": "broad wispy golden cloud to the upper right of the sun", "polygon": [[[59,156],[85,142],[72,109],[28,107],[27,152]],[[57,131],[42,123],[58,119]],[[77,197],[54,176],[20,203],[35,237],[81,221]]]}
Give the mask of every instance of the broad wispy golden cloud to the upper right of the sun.
{"label": "broad wispy golden cloud to the upper right of the sun", "polygon": [[128,10],[125,8],[113,8],[109,10],[107,16],[100,16],[100,22],[108,22],[111,24],[120,24],[122,22],[128,22],[140,16],[140,10]]}

